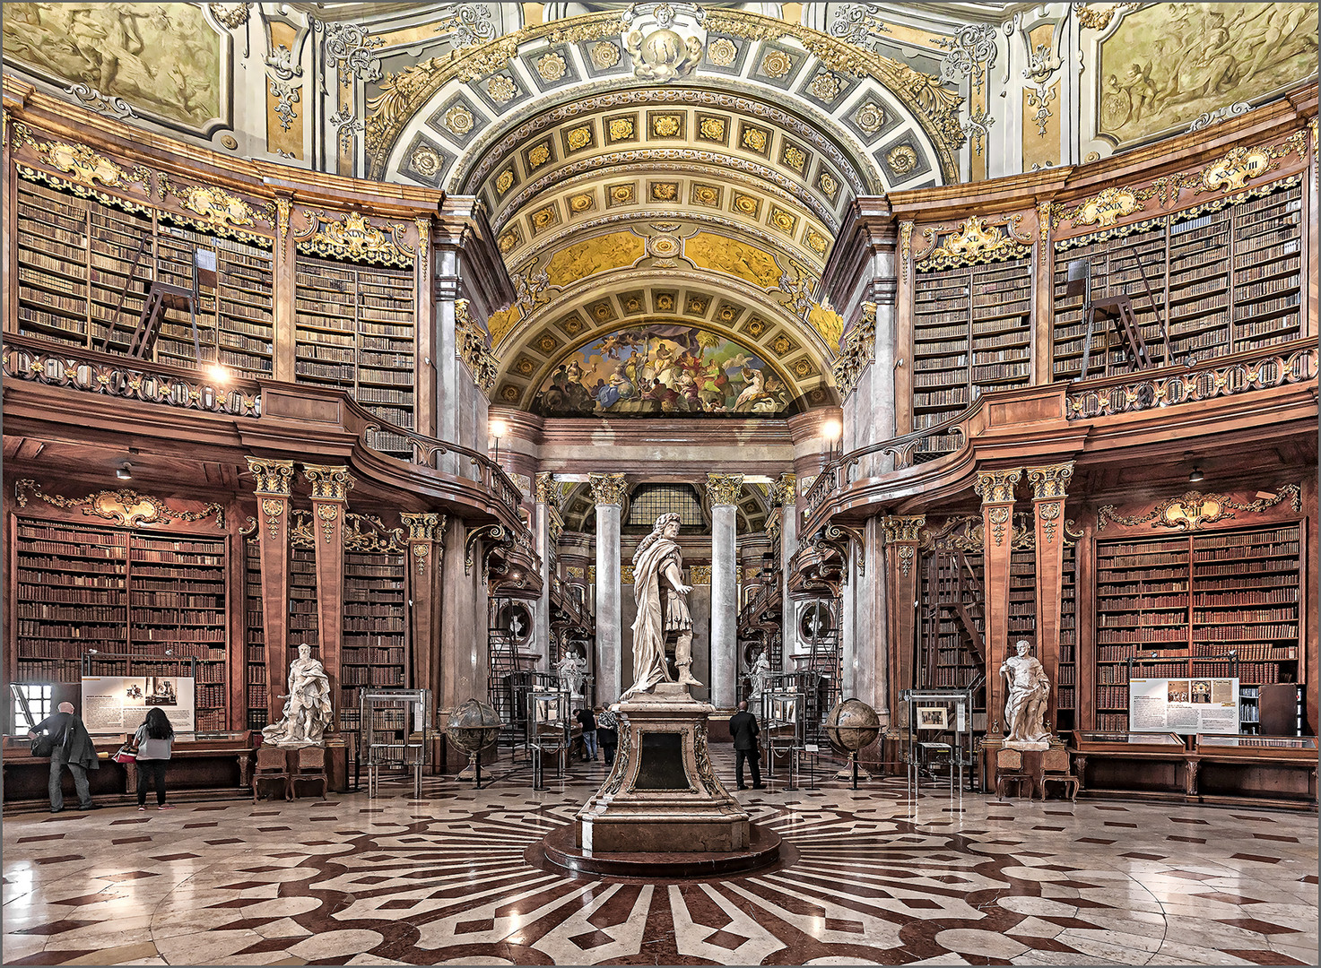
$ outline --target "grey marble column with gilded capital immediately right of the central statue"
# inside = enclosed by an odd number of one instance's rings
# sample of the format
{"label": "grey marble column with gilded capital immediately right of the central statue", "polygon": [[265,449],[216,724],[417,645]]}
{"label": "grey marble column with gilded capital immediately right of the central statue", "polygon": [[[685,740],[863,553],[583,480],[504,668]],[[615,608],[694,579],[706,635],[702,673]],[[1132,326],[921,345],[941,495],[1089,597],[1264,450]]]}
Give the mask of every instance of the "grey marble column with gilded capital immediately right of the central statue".
{"label": "grey marble column with gilded capital immediately right of the central statue", "polygon": [[711,498],[711,703],[733,709],[738,693],[738,497],[742,474],[707,474]]}

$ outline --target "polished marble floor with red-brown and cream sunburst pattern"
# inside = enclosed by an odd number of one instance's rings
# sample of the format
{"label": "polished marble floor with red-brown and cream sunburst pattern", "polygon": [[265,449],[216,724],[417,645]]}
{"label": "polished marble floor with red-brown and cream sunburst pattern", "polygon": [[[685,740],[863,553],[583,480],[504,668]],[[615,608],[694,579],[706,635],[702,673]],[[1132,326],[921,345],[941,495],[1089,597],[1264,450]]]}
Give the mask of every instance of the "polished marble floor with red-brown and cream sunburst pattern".
{"label": "polished marble floor with red-brown and cream sunburst pattern", "polygon": [[1316,816],[773,782],[740,799],[787,866],[530,864],[602,777],[7,819],[4,963],[1317,964]]}

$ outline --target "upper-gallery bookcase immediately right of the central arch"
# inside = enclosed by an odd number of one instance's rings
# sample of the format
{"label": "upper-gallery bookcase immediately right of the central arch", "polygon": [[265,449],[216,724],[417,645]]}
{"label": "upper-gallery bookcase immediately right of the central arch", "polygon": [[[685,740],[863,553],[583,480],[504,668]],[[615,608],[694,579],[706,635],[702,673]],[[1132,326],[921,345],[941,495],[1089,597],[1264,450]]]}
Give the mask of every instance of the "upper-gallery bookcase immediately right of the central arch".
{"label": "upper-gallery bookcase immediately right of the central arch", "polygon": [[[984,392],[1030,380],[1030,260],[917,273],[913,429],[955,416]],[[919,452],[934,456],[937,446],[954,448],[956,440],[923,441]]]}

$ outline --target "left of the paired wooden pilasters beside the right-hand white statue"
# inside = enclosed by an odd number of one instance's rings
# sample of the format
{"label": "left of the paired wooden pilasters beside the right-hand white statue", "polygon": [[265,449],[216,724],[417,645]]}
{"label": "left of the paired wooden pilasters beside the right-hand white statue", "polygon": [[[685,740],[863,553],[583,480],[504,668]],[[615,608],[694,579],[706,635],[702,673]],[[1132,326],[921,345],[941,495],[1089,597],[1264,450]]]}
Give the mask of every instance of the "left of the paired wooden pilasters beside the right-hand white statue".
{"label": "left of the paired wooden pilasters beside the right-hand white statue", "polygon": [[[1013,486],[1022,470],[980,470],[976,493],[982,498],[985,570],[987,737],[1004,732],[1004,680],[1000,666],[1009,651],[1009,563],[1013,555]],[[999,722],[1000,730],[991,730]]]}

